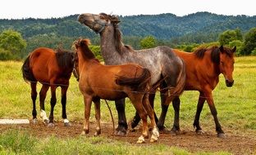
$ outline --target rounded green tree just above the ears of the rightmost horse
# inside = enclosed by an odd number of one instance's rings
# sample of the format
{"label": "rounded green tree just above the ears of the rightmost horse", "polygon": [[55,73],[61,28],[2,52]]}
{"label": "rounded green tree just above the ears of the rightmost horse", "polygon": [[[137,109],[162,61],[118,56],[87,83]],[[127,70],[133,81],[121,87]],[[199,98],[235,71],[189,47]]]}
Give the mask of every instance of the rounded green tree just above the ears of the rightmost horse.
{"label": "rounded green tree just above the ears of the rightmost horse", "polygon": [[229,42],[234,40],[243,41],[243,36],[240,29],[226,30],[219,35],[218,41],[221,45],[229,45]]}

